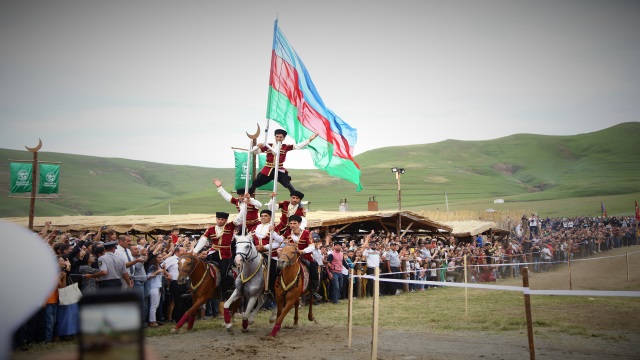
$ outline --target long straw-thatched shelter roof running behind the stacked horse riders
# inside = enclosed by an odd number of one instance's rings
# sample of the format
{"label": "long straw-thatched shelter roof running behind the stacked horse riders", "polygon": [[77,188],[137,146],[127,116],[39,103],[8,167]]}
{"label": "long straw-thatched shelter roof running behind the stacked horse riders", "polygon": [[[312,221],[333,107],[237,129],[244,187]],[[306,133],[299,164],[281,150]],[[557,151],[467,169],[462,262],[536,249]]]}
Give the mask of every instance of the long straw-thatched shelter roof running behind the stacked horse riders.
{"label": "long straw-thatched shelter roof running behind the stacked horse riders", "polygon": [[[233,219],[231,215],[230,219]],[[423,232],[425,234],[437,233],[439,230],[451,231],[445,224],[429,220],[411,211],[310,211],[307,213],[309,228],[335,227],[345,233],[357,233],[371,230],[396,231],[398,217],[403,230]],[[3,218],[24,227],[28,227],[29,219],[26,217]],[[36,217],[33,228],[40,231],[46,221],[51,221],[52,229],[62,231],[98,231],[102,225],[107,225],[111,230],[119,233],[167,233],[177,227],[187,230],[187,233],[204,232],[215,224],[215,214],[188,214],[188,215],[127,215],[127,216],[58,216]]]}

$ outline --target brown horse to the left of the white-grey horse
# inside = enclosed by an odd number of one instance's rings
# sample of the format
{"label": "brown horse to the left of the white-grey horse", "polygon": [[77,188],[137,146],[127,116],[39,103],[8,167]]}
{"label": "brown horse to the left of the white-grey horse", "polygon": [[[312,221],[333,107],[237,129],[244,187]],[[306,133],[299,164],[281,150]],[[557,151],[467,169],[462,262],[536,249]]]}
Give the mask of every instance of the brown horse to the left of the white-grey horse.
{"label": "brown horse to the left of the white-grey horse", "polygon": [[187,310],[171,333],[176,333],[187,320],[187,330],[193,328],[198,309],[205,301],[219,295],[222,277],[217,266],[198,258],[193,254],[186,254],[178,260],[178,282],[184,284],[187,278],[191,280],[189,292],[191,292],[192,305]]}

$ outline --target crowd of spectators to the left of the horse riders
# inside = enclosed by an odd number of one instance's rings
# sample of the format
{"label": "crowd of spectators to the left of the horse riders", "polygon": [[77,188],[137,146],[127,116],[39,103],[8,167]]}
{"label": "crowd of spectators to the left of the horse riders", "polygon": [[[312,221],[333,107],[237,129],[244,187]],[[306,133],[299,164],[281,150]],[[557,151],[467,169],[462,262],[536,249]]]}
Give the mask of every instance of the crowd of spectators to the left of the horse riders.
{"label": "crowd of spectators to the left of the horse riders", "polygon": [[[171,293],[169,287],[177,275],[174,273],[171,276],[169,263],[165,259],[191,251],[195,239],[180,235],[178,229],[173,229],[167,235],[138,237],[128,233],[118,234],[108,230],[107,226],[97,232],[82,233],[52,231],[51,228],[52,225],[47,222],[39,235],[58,261],[57,286],[43,300],[39,311],[14,333],[15,348],[69,340],[77,335],[78,304],[61,305],[58,289],[77,282],[83,295],[99,292],[101,283],[106,283],[100,259],[108,252],[105,247],[116,242],[114,254],[122,258],[128,272],[128,280],[118,277],[119,287],[137,291],[144,299],[142,313],[145,327],[175,322],[187,309],[188,304],[180,301],[182,295],[187,294],[188,297],[187,287],[183,286],[182,293],[177,295],[179,299],[175,293]],[[183,303],[184,306],[176,306]],[[217,311],[217,307],[211,312],[214,310]]]}

